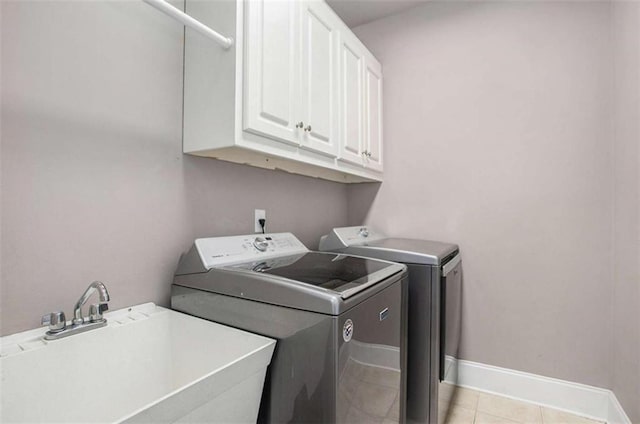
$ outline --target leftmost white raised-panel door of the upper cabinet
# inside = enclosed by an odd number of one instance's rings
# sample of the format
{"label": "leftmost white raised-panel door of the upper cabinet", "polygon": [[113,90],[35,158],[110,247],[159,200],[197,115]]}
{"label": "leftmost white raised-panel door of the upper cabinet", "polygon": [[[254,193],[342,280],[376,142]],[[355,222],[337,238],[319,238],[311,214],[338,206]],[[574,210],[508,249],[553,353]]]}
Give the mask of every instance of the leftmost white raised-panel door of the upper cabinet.
{"label": "leftmost white raised-panel door of the upper cabinet", "polygon": [[294,1],[244,3],[244,129],[298,144],[297,5]]}

